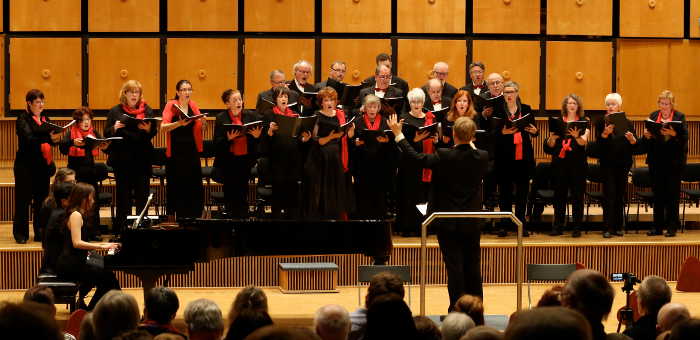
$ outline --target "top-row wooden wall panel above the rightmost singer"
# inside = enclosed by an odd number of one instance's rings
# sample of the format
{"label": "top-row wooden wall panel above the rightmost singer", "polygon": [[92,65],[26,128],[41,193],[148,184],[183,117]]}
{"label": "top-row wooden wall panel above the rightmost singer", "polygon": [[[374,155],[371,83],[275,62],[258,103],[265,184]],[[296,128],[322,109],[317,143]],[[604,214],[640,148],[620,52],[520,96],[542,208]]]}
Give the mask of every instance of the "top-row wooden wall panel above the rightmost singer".
{"label": "top-row wooden wall panel above the rightmost singer", "polygon": [[620,0],[621,37],[682,37],[683,1]]}

